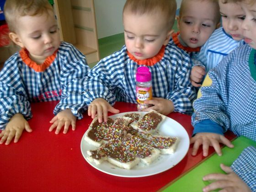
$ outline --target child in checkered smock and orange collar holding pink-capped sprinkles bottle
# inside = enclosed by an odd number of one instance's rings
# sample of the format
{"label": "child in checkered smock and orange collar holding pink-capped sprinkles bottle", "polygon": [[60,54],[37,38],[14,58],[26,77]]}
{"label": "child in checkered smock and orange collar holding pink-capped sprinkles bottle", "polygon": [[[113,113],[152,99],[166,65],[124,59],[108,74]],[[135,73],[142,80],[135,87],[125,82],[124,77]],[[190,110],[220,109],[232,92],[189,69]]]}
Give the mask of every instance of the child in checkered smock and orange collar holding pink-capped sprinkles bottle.
{"label": "child in checkered smock and orange collar holding pink-capped sprinkles bottle", "polygon": [[189,55],[168,43],[176,13],[175,0],[127,0],[123,8],[125,46],[102,59],[88,72],[85,102],[92,118],[107,121],[107,112],[117,113],[115,101],[136,103],[136,71],[140,66],[152,74],[152,100],[144,111],[162,114],[192,112],[195,91],[189,80]]}

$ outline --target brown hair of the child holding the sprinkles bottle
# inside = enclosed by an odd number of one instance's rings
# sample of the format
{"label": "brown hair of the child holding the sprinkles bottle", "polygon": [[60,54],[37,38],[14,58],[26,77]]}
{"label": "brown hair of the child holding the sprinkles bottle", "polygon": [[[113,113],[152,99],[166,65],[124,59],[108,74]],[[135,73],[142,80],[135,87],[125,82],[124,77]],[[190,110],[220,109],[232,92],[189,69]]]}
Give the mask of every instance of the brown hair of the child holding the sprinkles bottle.
{"label": "brown hair of the child holding the sprinkles bottle", "polygon": [[134,14],[142,15],[160,11],[164,14],[171,29],[175,20],[176,8],[176,0],[126,0],[123,12],[131,11]]}

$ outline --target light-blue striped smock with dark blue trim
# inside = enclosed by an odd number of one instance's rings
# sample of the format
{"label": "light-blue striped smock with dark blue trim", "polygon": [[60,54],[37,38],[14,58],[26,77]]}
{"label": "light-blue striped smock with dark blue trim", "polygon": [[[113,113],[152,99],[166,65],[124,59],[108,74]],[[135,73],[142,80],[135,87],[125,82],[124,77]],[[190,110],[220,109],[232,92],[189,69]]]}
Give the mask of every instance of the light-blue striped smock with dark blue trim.
{"label": "light-blue striped smock with dark blue trim", "polygon": [[219,62],[235,48],[244,45],[245,42],[235,41],[220,27],[209,37],[197,54],[197,59],[204,65],[206,72],[217,66]]}

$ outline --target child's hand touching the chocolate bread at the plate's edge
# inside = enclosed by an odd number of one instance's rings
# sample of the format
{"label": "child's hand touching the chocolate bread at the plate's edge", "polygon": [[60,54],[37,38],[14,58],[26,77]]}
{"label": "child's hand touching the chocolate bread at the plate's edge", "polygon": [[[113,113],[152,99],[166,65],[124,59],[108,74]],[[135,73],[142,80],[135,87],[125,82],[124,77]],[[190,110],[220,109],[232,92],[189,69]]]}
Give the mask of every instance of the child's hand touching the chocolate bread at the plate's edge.
{"label": "child's hand touching the chocolate bread at the plate's edge", "polygon": [[107,122],[107,112],[116,114],[119,113],[119,110],[112,107],[105,99],[102,98],[93,100],[88,107],[88,115],[94,119],[97,114],[99,123],[102,123],[102,114],[104,122]]}

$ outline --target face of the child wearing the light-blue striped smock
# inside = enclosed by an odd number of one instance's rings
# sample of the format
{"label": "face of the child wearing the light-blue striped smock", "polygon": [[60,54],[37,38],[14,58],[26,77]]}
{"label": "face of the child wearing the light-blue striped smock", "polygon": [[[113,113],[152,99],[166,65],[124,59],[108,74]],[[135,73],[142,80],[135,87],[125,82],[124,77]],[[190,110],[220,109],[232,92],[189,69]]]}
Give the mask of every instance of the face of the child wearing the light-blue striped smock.
{"label": "face of the child wearing the light-blue striped smock", "polygon": [[245,16],[242,7],[237,3],[222,3],[222,0],[219,0],[219,11],[225,32],[236,41],[242,40],[241,23]]}

